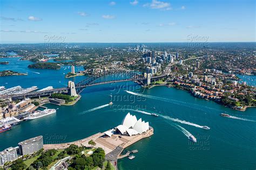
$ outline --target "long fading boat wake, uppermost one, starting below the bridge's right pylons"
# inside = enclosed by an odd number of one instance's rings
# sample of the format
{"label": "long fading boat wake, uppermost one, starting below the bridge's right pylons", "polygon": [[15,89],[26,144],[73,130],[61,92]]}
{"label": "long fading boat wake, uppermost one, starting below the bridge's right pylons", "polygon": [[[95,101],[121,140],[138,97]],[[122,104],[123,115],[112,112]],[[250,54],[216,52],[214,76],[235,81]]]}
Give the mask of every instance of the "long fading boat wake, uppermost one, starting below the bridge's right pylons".
{"label": "long fading boat wake, uppermost one, starting below the bridge's right pylons", "polygon": [[[205,111],[206,109],[218,110],[218,109],[214,109],[214,108],[210,108],[210,107],[204,107],[204,106],[199,105],[199,104],[187,103],[187,102],[177,101],[177,100],[173,100],[173,99],[169,99],[169,98],[164,98],[164,97],[157,97],[157,96],[138,94],[138,93],[134,93],[134,92],[128,91],[128,90],[125,90],[125,91],[126,91],[126,93],[129,93],[131,95],[142,96],[142,97],[146,97],[146,98],[152,98],[154,100],[159,100],[159,101],[163,101],[163,102],[169,102],[169,103],[173,103],[173,104],[178,104],[178,105],[182,105],[184,107],[198,109],[198,110],[202,110],[202,111]],[[193,105],[193,107],[191,107],[189,105]],[[200,109],[198,107],[206,108],[206,109]]]}

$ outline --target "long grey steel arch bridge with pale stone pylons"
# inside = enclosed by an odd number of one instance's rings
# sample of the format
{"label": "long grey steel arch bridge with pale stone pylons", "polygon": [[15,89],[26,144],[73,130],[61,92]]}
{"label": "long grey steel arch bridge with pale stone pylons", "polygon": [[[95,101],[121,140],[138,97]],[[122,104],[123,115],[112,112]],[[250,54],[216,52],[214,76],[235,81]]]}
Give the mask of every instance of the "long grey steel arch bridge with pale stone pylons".
{"label": "long grey steel arch bridge with pale stone pylons", "polygon": [[12,100],[22,100],[24,98],[33,98],[33,97],[43,97],[51,96],[53,93],[63,93],[69,94],[71,96],[80,94],[84,88],[90,86],[97,86],[100,84],[109,84],[109,83],[118,83],[126,81],[134,81],[144,86],[149,85],[151,81],[156,81],[163,79],[168,75],[167,72],[164,72],[158,76],[152,76],[151,74],[139,74],[137,71],[133,70],[108,70],[97,75],[89,76],[86,79],[74,83],[69,81],[68,87],[55,88],[45,91],[34,91],[26,94],[18,95],[1,95],[0,98],[11,98]]}

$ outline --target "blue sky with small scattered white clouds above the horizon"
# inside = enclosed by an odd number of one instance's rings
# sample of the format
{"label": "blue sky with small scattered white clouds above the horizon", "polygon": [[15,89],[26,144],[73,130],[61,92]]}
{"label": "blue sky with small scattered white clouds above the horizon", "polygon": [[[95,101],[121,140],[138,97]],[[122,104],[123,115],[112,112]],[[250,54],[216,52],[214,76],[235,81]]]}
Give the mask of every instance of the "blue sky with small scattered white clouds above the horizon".
{"label": "blue sky with small scattered white clouds above the horizon", "polygon": [[254,0],[0,0],[0,43],[255,41]]}

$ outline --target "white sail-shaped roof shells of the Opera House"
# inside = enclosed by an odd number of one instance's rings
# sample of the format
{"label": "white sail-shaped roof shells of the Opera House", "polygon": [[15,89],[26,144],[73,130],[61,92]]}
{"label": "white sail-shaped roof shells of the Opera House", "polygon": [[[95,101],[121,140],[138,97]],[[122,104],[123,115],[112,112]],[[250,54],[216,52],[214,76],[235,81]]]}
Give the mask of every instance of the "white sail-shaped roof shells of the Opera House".
{"label": "white sail-shaped roof shells of the Opera House", "polygon": [[142,118],[137,120],[137,117],[128,113],[123,119],[122,125],[118,125],[116,129],[124,134],[127,133],[129,136],[142,134],[149,130],[149,122],[142,121]]}

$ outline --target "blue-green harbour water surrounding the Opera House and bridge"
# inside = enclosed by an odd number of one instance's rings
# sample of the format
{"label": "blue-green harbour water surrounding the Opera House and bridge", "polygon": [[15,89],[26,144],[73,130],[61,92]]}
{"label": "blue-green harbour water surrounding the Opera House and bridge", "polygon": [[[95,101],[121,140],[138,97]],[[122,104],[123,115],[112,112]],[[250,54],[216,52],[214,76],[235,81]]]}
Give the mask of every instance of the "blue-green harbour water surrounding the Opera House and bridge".
{"label": "blue-green harbour water surrounding the Opera House and bridge", "polygon": [[[70,72],[70,69],[65,69],[67,66],[60,70],[42,70],[29,69],[30,61],[18,61],[17,58],[0,61],[10,62],[9,65],[0,65],[0,70],[28,72],[28,76],[0,77],[0,86],[56,88],[66,86],[68,80],[78,82],[85,78],[65,79],[63,73]],[[184,90],[167,87],[143,90],[133,82],[89,87],[81,95],[81,99],[72,106],[46,104],[48,108],[59,108],[56,114],[22,122],[1,133],[0,150],[38,135],[43,135],[45,144],[82,139],[114,128],[122,122],[127,112],[131,112],[137,118],[142,117],[150,122],[154,134],[126,148],[139,152],[132,160],[118,160],[119,169],[256,167],[255,108],[248,108],[245,112],[235,111],[212,101],[195,98]],[[106,105],[110,101],[113,105]],[[221,112],[240,119],[221,117]],[[151,113],[159,117],[149,115]],[[203,125],[211,129],[200,128]],[[187,132],[197,138],[197,143],[188,140]]]}

